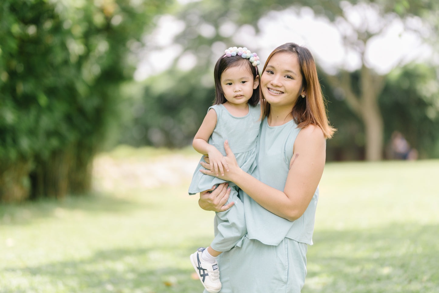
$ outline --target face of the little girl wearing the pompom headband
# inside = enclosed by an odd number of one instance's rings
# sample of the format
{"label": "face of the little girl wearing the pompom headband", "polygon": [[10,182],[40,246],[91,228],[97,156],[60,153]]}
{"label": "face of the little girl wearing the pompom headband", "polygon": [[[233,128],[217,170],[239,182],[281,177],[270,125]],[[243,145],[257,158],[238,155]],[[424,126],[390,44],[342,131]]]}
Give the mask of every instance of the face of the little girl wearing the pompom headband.
{"label": "face of the little girl wearing the pompom headband", "polygon": [[259,77],[253,79],[247,64],[239,63],[224,70],[221,74],[221,88],[230,104],[243,104],[252,97],[259,85]]}

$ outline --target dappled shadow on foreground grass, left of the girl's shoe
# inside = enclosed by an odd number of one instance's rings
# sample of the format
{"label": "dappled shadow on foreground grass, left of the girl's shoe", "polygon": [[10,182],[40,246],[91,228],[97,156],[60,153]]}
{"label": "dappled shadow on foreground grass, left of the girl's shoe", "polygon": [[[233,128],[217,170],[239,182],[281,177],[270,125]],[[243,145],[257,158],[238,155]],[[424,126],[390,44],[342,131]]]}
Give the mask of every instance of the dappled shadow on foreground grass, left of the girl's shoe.
{"label": "dappled shadow on foreground grass, left of the girl's shoe", "polygon": [[[194,249],[161,247],[99,251],[87,259],[62,261],[36,267],[7,267],[6,274],[25,278],[17,286],[9,278],[0,292],[202,292],[191,278],[189,255]],[[9,290],[9,291],[8,291]]]}

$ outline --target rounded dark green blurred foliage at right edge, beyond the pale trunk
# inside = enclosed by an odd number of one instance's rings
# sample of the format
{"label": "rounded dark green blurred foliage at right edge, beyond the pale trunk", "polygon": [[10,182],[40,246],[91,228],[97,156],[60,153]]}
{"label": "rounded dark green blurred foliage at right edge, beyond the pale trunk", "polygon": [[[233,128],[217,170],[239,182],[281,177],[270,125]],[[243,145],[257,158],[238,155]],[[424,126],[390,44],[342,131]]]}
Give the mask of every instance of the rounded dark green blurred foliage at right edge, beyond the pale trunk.
{"label": "rounded dark green blurred foliage at right edge, beyond the pale trunk", "polygon": [[[439,71],[429,64],[392,70],[380,99],[389,145],[398,131],[420,157],[439,157]],[[388,115],[394,113],[394,115]]]}

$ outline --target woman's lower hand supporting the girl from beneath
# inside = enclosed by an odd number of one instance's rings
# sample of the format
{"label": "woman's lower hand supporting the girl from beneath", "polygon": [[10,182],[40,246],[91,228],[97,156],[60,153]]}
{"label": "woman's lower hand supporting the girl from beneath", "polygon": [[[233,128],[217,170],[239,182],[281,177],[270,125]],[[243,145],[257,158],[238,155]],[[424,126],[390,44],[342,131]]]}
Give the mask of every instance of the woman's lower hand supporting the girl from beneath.
{"label": "woman's lower hand supporting the girl from beneath", "polygon": [[[230,202],[227,205],[227,200],[230,195],[230,188],[227,188],[229,184],[227,182],[219,184],[218,187],[212,187],[210,190],[205,190],[200,192],[200,199],[198,200],[198,205],[200,208],[205,209],[206,211],[215,211],[215,212],[224,212],[232,205],[234,202]],[[210,193],[209,191],[212,191]]]}

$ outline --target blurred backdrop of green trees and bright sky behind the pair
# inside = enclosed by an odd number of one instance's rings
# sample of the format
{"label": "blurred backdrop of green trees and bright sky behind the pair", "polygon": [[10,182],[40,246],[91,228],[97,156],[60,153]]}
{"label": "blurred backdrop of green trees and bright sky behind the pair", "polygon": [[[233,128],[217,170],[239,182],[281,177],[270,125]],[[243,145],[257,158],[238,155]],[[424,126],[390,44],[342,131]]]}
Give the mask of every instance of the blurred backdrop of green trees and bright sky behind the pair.
{"label": "blurred backdrop of green trees and bright sky behind the pair", "polygon": [[94,155],[120,144],[190,146],[235,45],[261,68],[280,44],[309,47],[338,128],[328,161],[439,157],[437,1],[4,0],[0,13],[4,201],[89,190]]}

